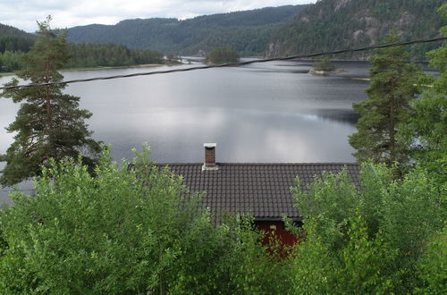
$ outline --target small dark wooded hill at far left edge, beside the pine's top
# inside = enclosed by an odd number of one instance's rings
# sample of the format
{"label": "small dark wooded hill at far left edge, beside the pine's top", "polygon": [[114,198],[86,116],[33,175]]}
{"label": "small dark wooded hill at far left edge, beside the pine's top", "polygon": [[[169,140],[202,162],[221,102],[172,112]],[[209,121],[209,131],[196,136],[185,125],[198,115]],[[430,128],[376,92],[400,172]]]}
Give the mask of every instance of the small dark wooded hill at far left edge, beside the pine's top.
{"label": "small dark wooded hill at far left edge, beside the pine's top", "polygon": [[34,40],[34,35],[0,23],[0,53],[6,50],[28,52]]}

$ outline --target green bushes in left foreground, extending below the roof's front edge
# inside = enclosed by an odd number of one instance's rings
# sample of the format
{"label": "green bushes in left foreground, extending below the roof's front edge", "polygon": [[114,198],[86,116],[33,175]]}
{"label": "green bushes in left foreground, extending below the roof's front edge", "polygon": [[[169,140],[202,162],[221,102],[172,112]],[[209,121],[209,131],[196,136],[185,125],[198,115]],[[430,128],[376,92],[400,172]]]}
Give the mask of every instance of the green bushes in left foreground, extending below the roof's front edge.
{"label": "green bushes in left foreground, extending below the roof's front edge", "polygon": [[290,260],[252,220],[215,226],[181,177],[105,149],[96,177],[81,159],[51,162],[35,195],[0,211],[2,293],[287,293]]}

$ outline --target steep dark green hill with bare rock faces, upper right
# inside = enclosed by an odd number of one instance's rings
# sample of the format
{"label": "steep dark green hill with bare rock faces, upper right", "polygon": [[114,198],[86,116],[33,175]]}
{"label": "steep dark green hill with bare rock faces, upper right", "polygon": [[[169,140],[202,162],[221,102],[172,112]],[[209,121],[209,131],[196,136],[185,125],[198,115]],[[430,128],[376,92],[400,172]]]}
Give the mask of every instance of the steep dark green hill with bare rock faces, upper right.
{"label": "steep dark green hill with bare rock faces, upper right", "polygon": [[[397,27],[403,40],[439,35],[445,24],[436,9],[445,0],[321,0],[299,12],[278,30],[268,46],[267,56],[308,54],[368,46],[383,41]],[[439,44],[410,46],[414,59]],[[356,55],[365,58],[371,52]],[[337,55],[350,58],[352,55]]]}

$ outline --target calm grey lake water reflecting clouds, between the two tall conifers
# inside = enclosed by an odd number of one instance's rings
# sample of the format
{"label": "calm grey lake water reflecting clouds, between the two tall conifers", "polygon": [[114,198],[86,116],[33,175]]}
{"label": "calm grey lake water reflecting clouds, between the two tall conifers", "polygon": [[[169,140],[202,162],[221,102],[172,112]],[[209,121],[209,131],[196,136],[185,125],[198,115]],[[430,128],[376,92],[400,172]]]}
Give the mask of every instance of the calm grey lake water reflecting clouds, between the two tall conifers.
{"label": "calm grey lake water reflecting clouds, between the two tall conifers", "polygon": [[[358,78],[368,77],[369,64],[337,65],[346,72],[321,77],[308,74],[310,62],[257,63],[75,83],[66,92],[81,97],[93,113],[94,138],[110,143],[117,160],[148,142],[158,163],[202,162],[203,143],[216,142],[218,162],[352,162],[351,105],[366,98],[368,82]],[[72,80],[163,69],[63,74]],[[13,141],[4,127],[16,110],[0,99],[0,153]]]}

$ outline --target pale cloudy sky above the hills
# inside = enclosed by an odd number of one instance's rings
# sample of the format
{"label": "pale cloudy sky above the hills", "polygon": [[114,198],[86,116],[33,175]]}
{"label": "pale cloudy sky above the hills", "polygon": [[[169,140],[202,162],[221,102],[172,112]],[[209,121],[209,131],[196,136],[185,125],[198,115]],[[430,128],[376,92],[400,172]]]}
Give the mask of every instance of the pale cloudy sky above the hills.
{"label": "pale cloudy sky above the hills", "polygon": [[0,23],[34,32],[36,21],[51,15],[51,27],[92,23],[115,24],[127,19],[229,13],[267,6],[316,3],[316,0],[0,0]]}

